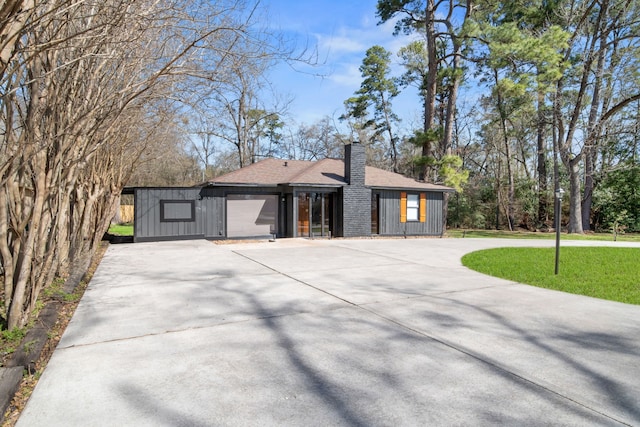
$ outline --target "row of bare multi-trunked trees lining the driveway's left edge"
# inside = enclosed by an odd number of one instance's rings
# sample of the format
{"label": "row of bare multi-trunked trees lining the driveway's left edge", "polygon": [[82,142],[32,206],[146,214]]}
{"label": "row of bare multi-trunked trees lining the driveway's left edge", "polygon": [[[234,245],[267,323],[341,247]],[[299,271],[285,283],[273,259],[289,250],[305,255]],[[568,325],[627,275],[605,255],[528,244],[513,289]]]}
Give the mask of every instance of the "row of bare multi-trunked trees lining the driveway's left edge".
{"label": "row of bare multi-trunked trees lining the driveway's left edge", "polygon": [[[225,83],[253,40],[242,1],[8,1],[0,7],[0,259],[8,328],[83,271],[136,162],[194,81]],[[256,51],[257,49],[252,49]],[[164,134],[164,136],[163,136]]]}

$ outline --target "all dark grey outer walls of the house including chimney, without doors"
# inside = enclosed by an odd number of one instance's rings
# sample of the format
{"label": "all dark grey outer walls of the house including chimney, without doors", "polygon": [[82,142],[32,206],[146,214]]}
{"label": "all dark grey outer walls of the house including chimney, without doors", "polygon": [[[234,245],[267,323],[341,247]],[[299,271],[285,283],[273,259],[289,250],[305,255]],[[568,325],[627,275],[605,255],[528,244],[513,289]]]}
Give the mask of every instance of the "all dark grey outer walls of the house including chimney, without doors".
{"label": "all dark grey outer walls of the house including chimney, without doors", "polygon": [[[207,187],[134,189],[134,241],[175,239],[225,239],[228,194],[271,194],[278,196],[278,237],[298,237],[298,200],[300,192],[334,193],[332,235],[371,236],[372,190],[364,185],[364,146],[347,146],[345,175],[350,184],[342,188],[326,187]],[[348,169],[348,170],[347,170]],[[374,190],[379,195],[378,231],[381,236],[441,236],[444,193],[407,191],[426,194],[426,220],[401,222],[400,190]],[[193,218],[183,220],[191,210],[180,201],[193,205]],[[188,205],[188,204],[187,204]],[[164,214],[164,218],[162,215]],[[421,212],[422,214],[422,212]]]}

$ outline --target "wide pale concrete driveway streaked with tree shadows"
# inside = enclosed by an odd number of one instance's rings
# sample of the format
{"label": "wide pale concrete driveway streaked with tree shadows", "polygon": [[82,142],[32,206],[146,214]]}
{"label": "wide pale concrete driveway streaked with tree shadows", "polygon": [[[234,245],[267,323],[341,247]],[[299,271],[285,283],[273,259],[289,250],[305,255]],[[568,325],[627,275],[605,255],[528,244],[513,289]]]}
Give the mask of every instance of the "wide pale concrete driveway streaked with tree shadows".
{"label": "wide pale concrete driveway streaked with tree shadows", "polygon": [[640,306],[460,263],[553,243],[111,246],[18,425],[640,425]]}

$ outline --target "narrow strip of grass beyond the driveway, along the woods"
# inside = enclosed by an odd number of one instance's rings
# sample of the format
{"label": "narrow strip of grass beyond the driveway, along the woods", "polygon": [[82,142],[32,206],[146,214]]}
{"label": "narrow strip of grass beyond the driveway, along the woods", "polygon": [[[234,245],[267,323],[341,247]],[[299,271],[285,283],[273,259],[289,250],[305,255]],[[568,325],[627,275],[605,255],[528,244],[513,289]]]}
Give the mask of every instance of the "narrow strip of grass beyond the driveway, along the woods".
{"label": "narrow strip of grass beyond the driveway, along the woods", "polygon": [[[500,239],[555,239],[556,233],[542,233],[532,231],[505,231],[505,230],[447,230],[448,237],[467,238],[500,238]],[[560,234],[561,240],[596,240],[613,241],[613,233],[587,233],[587,234]],[[620,242],[640,242],[640,234],[618,234],[616,239]]]}

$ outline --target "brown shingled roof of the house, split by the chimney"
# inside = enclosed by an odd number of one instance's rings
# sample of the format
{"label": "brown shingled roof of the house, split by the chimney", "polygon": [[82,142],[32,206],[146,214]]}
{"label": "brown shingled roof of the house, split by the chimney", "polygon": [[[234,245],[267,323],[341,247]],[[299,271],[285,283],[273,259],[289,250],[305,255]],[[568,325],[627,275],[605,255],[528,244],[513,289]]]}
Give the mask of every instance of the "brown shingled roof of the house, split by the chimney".
{"label": "brown shingled roof of the house, split by the chimney", "polygon": [[[344,178],[344,161],[323,159],[317,162],[306,160],[265,159],[258,163],[219,176],[209,185],[278,186],[307,185],[342,187],[347,185]],[[398,173],[366,166],[365,185],[371,188],[396,190],[454,191],[444,185],[431,184],[407,178]]]}

